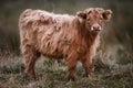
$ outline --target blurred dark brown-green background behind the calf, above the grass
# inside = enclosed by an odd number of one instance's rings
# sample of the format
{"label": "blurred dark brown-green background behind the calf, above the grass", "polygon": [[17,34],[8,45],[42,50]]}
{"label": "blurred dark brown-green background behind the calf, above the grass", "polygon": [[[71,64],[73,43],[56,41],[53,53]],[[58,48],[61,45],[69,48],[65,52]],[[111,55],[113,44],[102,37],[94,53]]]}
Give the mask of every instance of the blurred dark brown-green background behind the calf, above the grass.
{"label": "blurred dark brown-green background behind the calf, above the grass", "polygon": [[[75,14],[86,8],[113,11],[101,33],[100,50],[104,58],[117,64],[133,63],[133,1],[132,0],[1,0],[0,55],[20,55],[18,20],[25,9],[42,9],[54,13]],[[111,64],[111,63],[110,63]]]}

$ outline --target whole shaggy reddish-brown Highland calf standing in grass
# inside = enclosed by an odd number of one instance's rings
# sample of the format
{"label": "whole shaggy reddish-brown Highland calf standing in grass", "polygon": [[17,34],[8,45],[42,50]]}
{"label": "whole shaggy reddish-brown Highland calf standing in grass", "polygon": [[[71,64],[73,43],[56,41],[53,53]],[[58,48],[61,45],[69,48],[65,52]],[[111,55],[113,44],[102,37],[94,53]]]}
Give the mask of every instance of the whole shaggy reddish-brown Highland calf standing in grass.
{"label": "whole shaggy reddish-brown Highland calf standing in grass", "polygon": [[83,64],[86,76],[90,76],[99,32],[103,21],[110,16],[111,11],[101,8],[90,8],[76,15],[25,10],[19,19],[25,70],[35,79],[34,64],[40,54],[43,54],[52,58],[65,58],[69,79],[74,79],[78,61]]}

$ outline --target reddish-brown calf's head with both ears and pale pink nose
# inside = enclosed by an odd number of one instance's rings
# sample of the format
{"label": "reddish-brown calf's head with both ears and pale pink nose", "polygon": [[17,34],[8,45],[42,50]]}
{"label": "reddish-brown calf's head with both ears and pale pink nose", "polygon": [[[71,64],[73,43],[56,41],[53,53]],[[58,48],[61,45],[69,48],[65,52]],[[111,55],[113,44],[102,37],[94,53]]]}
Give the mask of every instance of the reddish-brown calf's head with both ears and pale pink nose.
{"label": "reddish-brown calf's head with both ears and pale pink nose", "polygon": [[102,8],[90,8],[76,13],[83,20],[85,29],[92,33],[99,33],[102,30],[104,21],[111,19],[111,10],[103,10]]}

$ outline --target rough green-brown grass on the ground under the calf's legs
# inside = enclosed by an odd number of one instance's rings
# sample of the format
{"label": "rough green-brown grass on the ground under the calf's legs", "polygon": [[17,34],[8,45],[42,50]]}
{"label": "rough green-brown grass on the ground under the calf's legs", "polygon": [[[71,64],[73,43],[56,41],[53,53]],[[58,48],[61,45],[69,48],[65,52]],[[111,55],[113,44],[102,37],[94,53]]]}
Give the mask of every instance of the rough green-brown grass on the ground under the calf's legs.
{"label": "rough green-brown grass on the ground under the calf's legs", "polygon": [[75,81],[68,81],[64,61],[41,57],[35,65],[39,80],[34,81],[23,76],[22,57],[2,56],[0,59],[0,88],[132,88],[133,65],[108,66],[95,62],[92,79],[83,77],[84,69],[79,63],[75,70]]}

